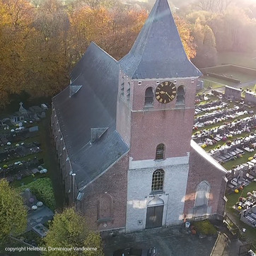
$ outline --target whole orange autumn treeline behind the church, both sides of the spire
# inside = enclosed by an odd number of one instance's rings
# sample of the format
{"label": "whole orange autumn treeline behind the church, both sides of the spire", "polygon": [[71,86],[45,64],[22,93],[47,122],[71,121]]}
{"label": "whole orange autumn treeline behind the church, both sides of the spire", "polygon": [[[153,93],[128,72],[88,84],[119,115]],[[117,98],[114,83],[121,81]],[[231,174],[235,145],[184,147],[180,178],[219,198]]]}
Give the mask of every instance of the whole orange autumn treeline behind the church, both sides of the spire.
{"label": "whole orange autumn treeline behind the church, both sides of the spire", "polygon": [[[113,0],[0,0],[0,107],[13,94],[59,93],[69,72],[94,41],[115,59],[129,52],[148,13]],[[190,26],[175,18],[188,57],[194,57]]]}

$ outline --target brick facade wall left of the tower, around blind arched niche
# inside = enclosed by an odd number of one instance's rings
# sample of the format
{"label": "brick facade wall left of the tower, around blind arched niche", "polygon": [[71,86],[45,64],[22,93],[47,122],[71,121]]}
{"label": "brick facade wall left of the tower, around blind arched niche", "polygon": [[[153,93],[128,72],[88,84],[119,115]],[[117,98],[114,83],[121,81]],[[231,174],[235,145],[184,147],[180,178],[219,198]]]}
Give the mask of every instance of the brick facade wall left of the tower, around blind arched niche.
{"label": "brick facade wall left of the tower, around blind arched niche", "polygon": [[[128,156],[124,156],[83,190],[84,197],[81,203],[76,202],[77,209],[85,215],[89,226],[94,230],[124,228],[127,204],[127,169]],[[98,221],[99,199],[104,194],[108,194],[112,198],[112,216],[105,221]]]}

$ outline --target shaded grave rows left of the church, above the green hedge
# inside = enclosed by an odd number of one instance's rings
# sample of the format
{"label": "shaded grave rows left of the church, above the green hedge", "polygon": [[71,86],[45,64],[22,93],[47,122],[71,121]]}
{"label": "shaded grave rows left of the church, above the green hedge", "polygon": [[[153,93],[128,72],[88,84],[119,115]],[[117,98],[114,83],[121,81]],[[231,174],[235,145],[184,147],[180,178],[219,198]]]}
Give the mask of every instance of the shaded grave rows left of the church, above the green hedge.
{"label": "shaded grave rows left of the church, above the green hedge", "polygon": [[43,155],[38,142],[38,122],[45,117],[47,106],[30,107],[20,110],[10,117],[0,120],[0,178],[9,182],[47,173],[42,167]]}

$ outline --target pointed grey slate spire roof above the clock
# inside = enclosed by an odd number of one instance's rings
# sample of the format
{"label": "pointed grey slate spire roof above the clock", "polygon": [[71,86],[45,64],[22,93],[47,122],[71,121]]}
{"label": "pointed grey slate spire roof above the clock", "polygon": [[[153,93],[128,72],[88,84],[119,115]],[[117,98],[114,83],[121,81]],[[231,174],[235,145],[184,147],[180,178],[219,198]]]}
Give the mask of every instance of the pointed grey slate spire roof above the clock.
{"label": "pointed grey slate spire roof above the clock", "polygon": [[120,66],[133,79],[202,75],[187,59],[168,0],[156,0],[132,49],[120,59]]}

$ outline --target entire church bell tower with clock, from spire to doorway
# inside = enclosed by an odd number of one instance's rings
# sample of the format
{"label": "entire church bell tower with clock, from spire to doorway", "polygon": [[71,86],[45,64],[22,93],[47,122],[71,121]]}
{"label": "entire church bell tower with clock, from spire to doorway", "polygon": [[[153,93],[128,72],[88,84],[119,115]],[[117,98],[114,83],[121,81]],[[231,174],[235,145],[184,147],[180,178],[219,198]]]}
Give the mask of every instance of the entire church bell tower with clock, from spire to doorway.
{"label": "entire church bell tower with clock, from spire to doorway", "polygon": [[156,0],[120,67],[117,132],[129,145],[126,230],[180,223],[201,73],[187,59],[168,0]]}

